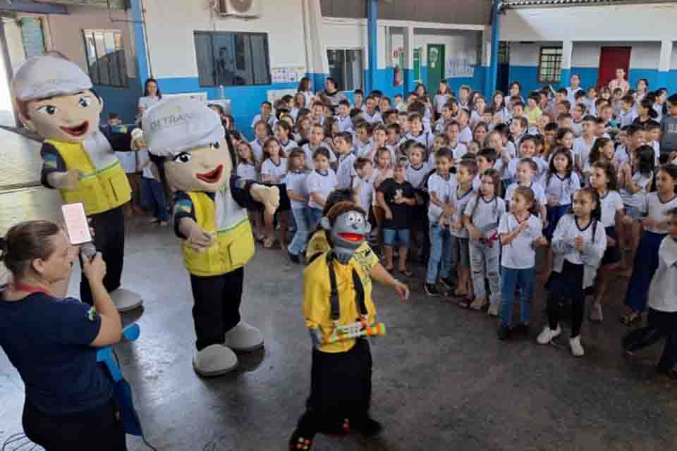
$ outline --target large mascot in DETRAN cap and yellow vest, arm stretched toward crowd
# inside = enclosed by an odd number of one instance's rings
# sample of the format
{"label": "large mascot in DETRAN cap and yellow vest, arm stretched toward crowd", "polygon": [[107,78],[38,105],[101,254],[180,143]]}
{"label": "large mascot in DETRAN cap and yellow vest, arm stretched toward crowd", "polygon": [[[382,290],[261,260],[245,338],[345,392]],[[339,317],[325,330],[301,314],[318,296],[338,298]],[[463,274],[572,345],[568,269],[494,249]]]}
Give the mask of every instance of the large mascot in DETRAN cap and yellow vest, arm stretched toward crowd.
{"label": "large mascot in DETRAN cap and yellow vest, arm stretched toward crowd", "polygon": [[247,208],[274,212],[279,190],[231,175],[231,140],[219,116],[200,102],[171,99],[142,118],[148,152],[174,191],[173,228],[193,288],[200,376],[236,368],[235,352],[263,347],[259,330],[240,319],[244,266],[255,251]]}

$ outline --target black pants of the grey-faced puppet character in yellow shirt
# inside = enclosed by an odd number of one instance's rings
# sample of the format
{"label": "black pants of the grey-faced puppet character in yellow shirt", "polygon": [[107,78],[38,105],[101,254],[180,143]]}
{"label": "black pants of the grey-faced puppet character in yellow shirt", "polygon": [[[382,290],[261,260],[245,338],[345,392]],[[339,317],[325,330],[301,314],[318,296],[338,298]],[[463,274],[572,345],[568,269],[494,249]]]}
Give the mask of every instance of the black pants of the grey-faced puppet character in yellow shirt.
{"label": "black pants of the grey-faced puppet character in yellow shirt", "polygon": [[296,433],[310,440],[316,433],[341,435],[344,425],[367,420],[371,398],[372,353],[366,339],[356,340],[348,352],[313,350],[310,397]]}

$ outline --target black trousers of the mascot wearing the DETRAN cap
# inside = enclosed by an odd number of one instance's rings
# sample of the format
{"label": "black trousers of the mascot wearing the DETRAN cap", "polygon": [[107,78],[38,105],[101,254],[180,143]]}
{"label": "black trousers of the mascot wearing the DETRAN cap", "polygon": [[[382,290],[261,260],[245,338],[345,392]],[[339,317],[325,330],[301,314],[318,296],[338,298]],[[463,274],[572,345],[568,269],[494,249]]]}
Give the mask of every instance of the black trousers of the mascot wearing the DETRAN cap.
{"label": "black trousers of the mascot wearing the DETRAN cap", "polygon": [[221,276],[198,277],[190,275],[193,288],[193,321],[195,343],[202,351],[210,345],[221,345],[224,334],[240,323],[240,301],[245,268],[238,268]]}

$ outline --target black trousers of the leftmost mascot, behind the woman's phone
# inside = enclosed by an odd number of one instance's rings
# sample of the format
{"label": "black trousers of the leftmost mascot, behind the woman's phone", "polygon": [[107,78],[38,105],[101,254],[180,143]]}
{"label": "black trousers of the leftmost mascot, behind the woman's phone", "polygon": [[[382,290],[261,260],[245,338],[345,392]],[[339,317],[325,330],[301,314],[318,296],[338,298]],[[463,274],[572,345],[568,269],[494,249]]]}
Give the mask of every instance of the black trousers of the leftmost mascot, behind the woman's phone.
{"label": "black trousers of the leftmost mascot, behind the woman's phone", "polygon": [[[120,288],[122,265],[125,259],[125,212],[118,206],[103,213],[93,214],[90,218],[90,227],[94,229],[94,246],[106,262],[106,276],[104,287],[108,292]],[[82,266],[80,257],[80,266]],[[80,300],[85,304],[94,304],[90,282],[83,273],[80,280]]]}

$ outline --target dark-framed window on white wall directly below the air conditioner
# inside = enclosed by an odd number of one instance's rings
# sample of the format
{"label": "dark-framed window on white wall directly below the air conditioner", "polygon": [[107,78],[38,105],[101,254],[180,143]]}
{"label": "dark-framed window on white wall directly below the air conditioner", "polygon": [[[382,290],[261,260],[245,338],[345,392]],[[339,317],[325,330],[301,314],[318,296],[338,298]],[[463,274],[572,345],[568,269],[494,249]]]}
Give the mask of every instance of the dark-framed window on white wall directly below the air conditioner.
{"label": "dark-framed window on white wall directly below the air conditioner", "polygon": [[270,85],[267,33],[195,32],[200,86]]}

